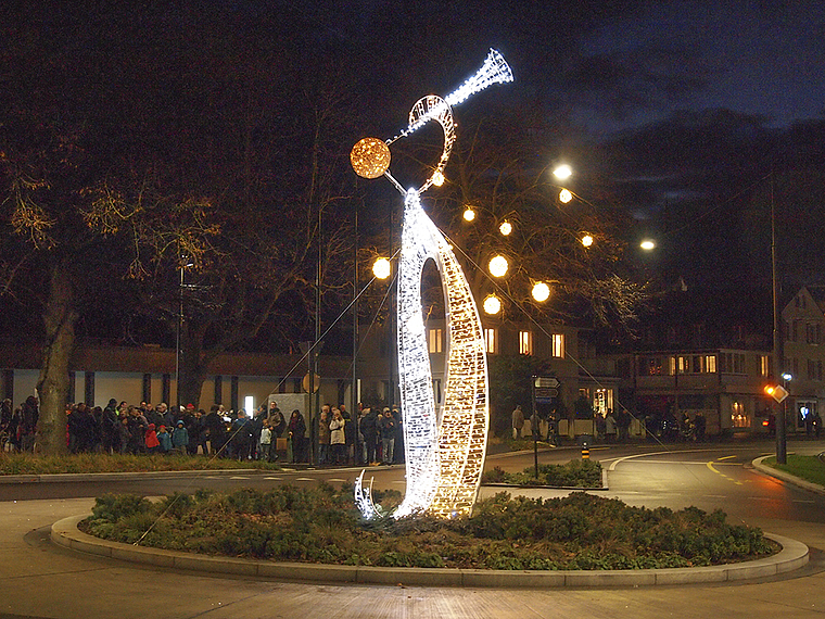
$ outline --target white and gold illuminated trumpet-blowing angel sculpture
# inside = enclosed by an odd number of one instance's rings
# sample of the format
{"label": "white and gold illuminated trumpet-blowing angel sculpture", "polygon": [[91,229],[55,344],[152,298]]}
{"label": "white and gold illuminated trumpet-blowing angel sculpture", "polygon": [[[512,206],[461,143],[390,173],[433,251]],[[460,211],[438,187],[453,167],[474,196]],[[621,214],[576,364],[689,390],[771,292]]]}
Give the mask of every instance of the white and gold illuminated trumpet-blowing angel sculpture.
{"label": "white and gold illuminated trumpet-blowing angel sculpture", "polygon": [[[365,138],[352,150],[356,174],[388,178],[404,195],[404,227],[398,267],[398,379],[404,410],[407,490],[393,513],[401,518],[427,513],[452,518],[469,515],[479,491],[490,428],[487,359],[484,333],[472,292],[444,235],[421,207],[420,195],[443,179],[456,139],[453,106],[493,84],[512,81],[502,54],[490,50],[484,65],[452,94],[420,99],[409,124],[398,136],[382,141]],[[390,174],[390,146],[434,121],[444,130],[444,148],[434,172],[418,189],[403,188]],[[432,368],[421,307],[421,275],[432,260],[441,276],[447,318],[447,363],[444,406],[439,410],[432,389]],[[378,515],[361,472],[355,498],[366,518]]]}

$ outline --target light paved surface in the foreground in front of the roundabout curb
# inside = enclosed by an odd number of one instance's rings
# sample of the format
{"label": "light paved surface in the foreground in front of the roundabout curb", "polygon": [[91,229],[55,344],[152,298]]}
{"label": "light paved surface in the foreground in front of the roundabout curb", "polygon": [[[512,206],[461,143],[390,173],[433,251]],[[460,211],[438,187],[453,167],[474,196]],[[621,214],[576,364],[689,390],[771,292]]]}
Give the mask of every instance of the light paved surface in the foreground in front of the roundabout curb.
{"label": "light paved surface in the foreground in front of the roundabout curb", "polygon": [[[503,590],[410,586],[404,584],[403,572],[392,585],[192,573],[85,555],[49,541],[53,522],[88,513],[92,504],[86,498],[0,503],[0,617],[801,619],[825,612],[821,557],[775,582]],[[825,547],[823,531],[804,523],[773,525],[765,530],[782,528],[782,534]]]}

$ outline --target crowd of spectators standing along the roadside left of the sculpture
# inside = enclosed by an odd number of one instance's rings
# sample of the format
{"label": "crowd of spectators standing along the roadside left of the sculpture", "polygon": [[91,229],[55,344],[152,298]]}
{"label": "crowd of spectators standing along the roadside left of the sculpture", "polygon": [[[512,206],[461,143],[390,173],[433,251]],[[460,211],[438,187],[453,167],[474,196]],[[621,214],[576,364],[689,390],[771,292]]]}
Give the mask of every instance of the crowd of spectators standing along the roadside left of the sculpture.
{"label": "crowd of spectators standing along the roadside left of the sculpture", "polygon": [[[11,400],[3,401],[3,446],[16,452],[33,451],[38,417],[34,396],[14,410]],[[297,409],[287,419],[277,402],[263,404],[252,415],[244,409],[227,412],[220,404],[206,413],[192,404],[132,405],[115,399],[105,407],[84,402],[66,407],[66,443],[73,454],[200,453],[238,460],[305,463],[312,458],[312,441],[317,442],[317,462],[321,466],[375,466],[404,460],[397,406],[380,409],[358,404],[353,416],[343,404],[325,404],[315,428],[307,427]]]}

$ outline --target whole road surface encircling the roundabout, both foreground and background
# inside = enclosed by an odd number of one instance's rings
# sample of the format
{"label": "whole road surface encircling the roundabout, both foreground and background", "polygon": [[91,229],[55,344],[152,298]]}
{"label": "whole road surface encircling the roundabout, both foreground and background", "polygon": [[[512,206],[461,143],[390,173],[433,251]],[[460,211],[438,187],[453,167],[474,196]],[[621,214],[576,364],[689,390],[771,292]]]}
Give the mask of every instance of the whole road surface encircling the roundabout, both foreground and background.
{"label": "whole road surface encircling the roundabout, both foreground and background", "polygon": [[[816,453],[825,443],[789,444]],[[758,443],[594,447],[609,469],[610,489],[599,491],[633,505],[722,508],[733,520],[799,540],[812,548],[808,567],[739,583],[572,590],[466,590],[405,586],[319,585],[149,569],[58,548],[51,522],[88,513],[94,495],[132,491],[147,495],[201,487],[265,488],[275,483],[352,481],[355,469],[278,473],[142,476],[120,482],[0,484],[0,618],[118,619],[138,617],[246,619],[323,617],[447,617],[524,619],[813,619],[825,617],[825,497],[776,481],[751,468],[771,452]],[[566,462],[575,450],[553,450],[542,462]],[[488,467],[521,470],[531,453],[491,456]],[[403,467],[373,468],[379,488],[404,488]],[[483,493],[498,489],[483,489]],[[553,496],[563,491],[530,490]],[[72,498],[81,496],[80,498]]]}

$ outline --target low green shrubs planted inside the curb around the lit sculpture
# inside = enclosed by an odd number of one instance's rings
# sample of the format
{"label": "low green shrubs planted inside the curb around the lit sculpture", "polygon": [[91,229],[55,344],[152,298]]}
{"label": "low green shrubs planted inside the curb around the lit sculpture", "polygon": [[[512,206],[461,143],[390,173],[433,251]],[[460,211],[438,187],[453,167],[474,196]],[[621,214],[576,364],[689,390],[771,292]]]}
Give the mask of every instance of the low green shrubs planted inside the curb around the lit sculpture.
{"label": "low green shrubs planted inside the curb around the lit sculpture", "polygon": [[[390,508],[401,495],[376,497]],[[158,503],[106,495],[80,528],[118,542],[210,555],[386,567],[644,569],[775,552],[759,529],[728,525],[719,510],[650,510],[584,493],[548,501],[500,493],[479,502],[472,518],[369,522],[353,507],[352,488],[328,484],[198,491]]]}

